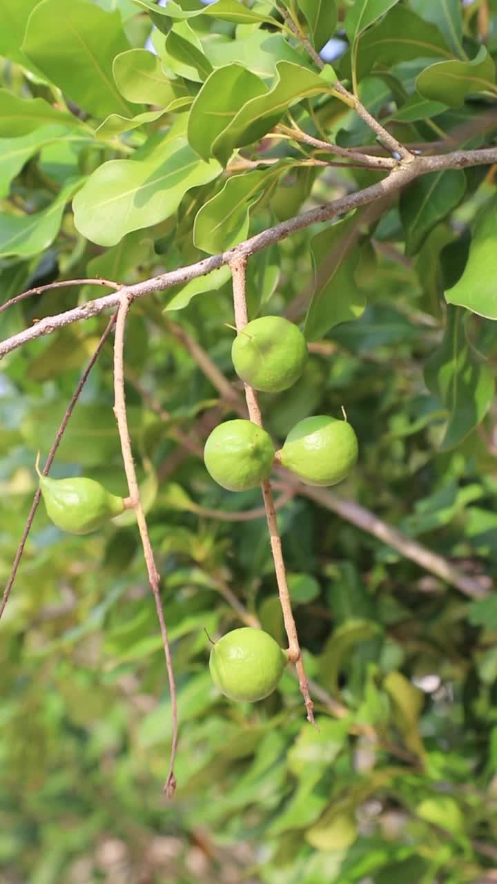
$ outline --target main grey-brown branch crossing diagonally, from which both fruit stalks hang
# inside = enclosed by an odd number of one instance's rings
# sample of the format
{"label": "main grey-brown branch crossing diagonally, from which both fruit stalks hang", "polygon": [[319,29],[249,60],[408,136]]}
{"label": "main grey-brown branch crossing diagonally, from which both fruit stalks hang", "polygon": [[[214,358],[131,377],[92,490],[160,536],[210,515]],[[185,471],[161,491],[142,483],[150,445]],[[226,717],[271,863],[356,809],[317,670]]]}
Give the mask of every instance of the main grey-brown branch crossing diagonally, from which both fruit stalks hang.
{"label": "main grey-brown branch crossing diagonally, from which both fruit stalks hang", "polygon": [[[205,276],[212,271],[218,270],[219,267],[232,263],[233,260],[239,257],[254,255],[256,252],[261,251],[261,249],[279,242],[279,240],[285,240],[293,233],[305,230],[310,225],[329,221],[333,217],[343,215],[345,212],[368,205],[370,202],[374,202],[386,194],[393,194],[421,175],[427,175],[432,171],[464,169],[471,165],[488,165],[493,163],[497,163],[497,148],[455,150],[453,153],[436,156],[413,156],[409,160],[409,164],[399,164],[386,179],[377,181],[370,187],[364,187],[363,190],[356,191],[354,194],[342,196],[340,199],[333,200],[333,202],[329,202],[317,209],[289,218],[287,221],[283,221],[262,233],[257,233],[256,236],[252,236],[248,240],[244,240],[244,242],[228,249],[226,252],[222,252],[219,255],[210,255],[210,257],[203,258],[202,261],[189,264],[186,267],[180,267],[178,270],[145,279],[134,286],[123,286],[119,292],[104,295],[103,298],[99,298],[96,301],[88,301],[86,304],[81,304],[80,307],[67,310],[65,313],[57,314],[57,316],[47,316],[34,326],[24,331],[19,331],[18,334],[12,335],[11,338],[5,339],[0,343],[0,358],[11,353],[17,347],[22,347],[28,341],[40,338],[42,335],[51,334],[53,331],[64,328],[65,325],[89,319],[91,316],[97,316],[103,313],[104,310],[117,308],[119,306],[120,293],[126,293],[126,297],[134,301],[147,294],[162,292],[171,286],[184,285],[191,279]],[[114,285],[117,286],[118,284],[115,283]]]}

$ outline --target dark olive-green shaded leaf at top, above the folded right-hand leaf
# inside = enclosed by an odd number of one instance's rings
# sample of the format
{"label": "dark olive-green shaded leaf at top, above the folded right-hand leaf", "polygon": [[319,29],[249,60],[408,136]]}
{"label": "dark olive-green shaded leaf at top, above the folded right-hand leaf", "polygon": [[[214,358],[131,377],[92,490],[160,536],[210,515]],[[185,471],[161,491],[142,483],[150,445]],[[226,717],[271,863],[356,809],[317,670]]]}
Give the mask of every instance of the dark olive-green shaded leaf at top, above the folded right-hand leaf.
{"label": "dark olive-green shaded leaf at top, above the folded right-hand leaf", "polygon": [[395,6],[357,47],[357,71],[363,77],[374,65],[392,67],[415,58],[452,58],[443,34],[406,6]]}

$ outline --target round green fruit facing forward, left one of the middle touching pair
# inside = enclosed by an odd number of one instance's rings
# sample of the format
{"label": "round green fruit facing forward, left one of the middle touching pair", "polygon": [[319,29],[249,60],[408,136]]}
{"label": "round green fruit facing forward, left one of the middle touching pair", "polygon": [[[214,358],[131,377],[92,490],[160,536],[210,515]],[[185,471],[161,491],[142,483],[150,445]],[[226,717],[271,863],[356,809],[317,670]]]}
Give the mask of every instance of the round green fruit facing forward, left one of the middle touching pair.
{"label": "round green fruit facing forward, left one of the middle touching pair", "polygon": [[271,473],[271,436],[251,421],[226,421],[210,433],[203,449],[210,476],[230,492],[256,488]]}

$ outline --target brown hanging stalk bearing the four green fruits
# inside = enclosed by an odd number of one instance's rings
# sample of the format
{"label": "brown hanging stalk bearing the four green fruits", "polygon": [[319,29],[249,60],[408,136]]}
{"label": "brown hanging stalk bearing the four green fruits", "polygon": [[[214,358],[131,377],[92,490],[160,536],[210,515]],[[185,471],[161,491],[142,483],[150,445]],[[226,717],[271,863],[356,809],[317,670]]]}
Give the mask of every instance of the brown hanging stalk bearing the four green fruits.
{"label": "brown hanging stalk bearing the four green fruits", "polygon": [[[248,324],[246,295],[247,258],[245,256],[234,258],[230,263],[230,268],[233,277],[234,323],[236,325],[236,330],[241,331],[241,329]],[[245,382],[243,383],[243,388],[245,391],[245,399],[247,401],[248,416],[250,420],[253,421],[253,423],[258,424],[258,426],[263,427],[263,417],[261,415],[261,409],[259,408],[256,391]],[[287,584],[287,571],[285,568],[285,560],[283,558],[281,537],[279,536],[270,480],[265,479],[264,482],[261,483],[261,488],[271,543],[272,560],[274,561],[276,582],[278,584],[279,603],[281,605],[285,631],[288,639],[288,659],[295,664],[295,669],[299,677],[299,687],[307,710],[307,718],[311,724],[314,724],[314,704],[310,697],[309,683],[307,681],[307,675],[305,674],[299,637],[297,635],[294,613],[292,611],[292,602]]]}

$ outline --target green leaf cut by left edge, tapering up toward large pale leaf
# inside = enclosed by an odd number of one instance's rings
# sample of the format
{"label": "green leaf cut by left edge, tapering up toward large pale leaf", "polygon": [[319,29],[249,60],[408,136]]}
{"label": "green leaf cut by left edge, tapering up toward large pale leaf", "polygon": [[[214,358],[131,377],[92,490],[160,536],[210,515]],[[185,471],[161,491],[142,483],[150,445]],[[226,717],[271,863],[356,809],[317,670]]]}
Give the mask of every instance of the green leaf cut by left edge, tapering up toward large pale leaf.
{"label": "green leaf cut by left edge, tapering up toward large pale leaf", "polygon": [[71,181],[48,209],[34,215],[11,215],[0,213],[0,257],[22,255],[31,257],[42,252],[55,240],[59,231],[65,205],[81,186],[83,179]]}

